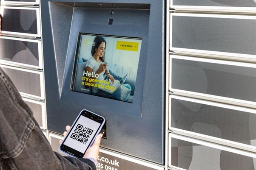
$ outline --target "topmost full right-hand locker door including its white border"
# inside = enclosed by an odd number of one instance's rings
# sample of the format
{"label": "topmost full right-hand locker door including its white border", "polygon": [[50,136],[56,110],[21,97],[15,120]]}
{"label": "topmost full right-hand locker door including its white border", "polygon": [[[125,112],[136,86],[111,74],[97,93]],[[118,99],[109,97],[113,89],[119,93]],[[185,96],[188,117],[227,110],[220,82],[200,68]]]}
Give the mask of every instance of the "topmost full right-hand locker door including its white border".
{"label": "topmost full right-hand locker door including its white border", "polygon": [[171,13],[170,49],[256,61],[255,16]]}

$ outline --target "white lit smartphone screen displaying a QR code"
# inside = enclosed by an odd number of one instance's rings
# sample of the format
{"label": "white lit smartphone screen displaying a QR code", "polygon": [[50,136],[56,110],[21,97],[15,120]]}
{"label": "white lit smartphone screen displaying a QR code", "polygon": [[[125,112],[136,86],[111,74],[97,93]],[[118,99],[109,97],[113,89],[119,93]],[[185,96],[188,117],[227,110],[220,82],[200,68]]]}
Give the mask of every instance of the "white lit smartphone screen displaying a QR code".
{"label": "white lit smartphone screen displaying a QR code", "polygon": [[84,153],[99,127],[100,123],[80,115],[63,144]]}

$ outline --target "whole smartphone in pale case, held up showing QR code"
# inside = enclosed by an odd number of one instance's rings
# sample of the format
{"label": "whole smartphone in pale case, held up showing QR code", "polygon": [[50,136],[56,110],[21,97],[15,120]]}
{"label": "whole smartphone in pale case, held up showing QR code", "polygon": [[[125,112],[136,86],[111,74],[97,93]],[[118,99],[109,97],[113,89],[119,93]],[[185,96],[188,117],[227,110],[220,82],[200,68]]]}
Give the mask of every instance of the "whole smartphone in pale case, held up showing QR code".
{"label": "whole smartphone in pale case, held up showing QR code", "polygon": [[63,139],[59,151],[71,157],[82,158],[104,123],[104,117],[82,110]]}

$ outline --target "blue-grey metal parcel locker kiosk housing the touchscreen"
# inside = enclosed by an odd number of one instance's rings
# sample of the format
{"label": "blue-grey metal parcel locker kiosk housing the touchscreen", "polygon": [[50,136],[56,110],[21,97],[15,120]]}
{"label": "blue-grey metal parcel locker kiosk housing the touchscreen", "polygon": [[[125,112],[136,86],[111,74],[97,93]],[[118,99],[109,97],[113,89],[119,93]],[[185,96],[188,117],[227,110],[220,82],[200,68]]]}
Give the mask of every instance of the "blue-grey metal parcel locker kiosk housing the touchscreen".
{"label": "blue-grey metal parcel locker kiosk housing the touchscreen", "polygon": [[[62,134],[88,109],[107,120],[103,148],[164,164],[165,1],[42,0],[40,7],[48,130]],[[108,70],[120,81],[113,94],[85,86],[96,37],[105,39]]]}

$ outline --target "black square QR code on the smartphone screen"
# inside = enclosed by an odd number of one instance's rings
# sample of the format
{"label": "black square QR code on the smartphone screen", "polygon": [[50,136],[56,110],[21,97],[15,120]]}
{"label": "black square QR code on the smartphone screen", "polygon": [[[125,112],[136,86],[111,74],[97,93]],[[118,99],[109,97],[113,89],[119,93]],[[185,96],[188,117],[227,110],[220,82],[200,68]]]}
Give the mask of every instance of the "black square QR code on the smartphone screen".
{"label": "black square QR code on the smartphone screen", "polygon": [[86,144],[92,132],[93,130],[78,124],[74,132],[71,134],[71,138],[77,140],[78,142]]}

